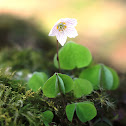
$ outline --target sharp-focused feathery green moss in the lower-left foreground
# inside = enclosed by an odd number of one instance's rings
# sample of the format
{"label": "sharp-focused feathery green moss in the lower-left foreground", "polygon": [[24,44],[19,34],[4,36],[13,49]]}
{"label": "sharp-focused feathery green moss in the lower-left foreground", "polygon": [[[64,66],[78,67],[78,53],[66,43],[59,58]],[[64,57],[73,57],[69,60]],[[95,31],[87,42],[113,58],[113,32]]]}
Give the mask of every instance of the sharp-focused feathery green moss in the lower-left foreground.
{"label": "sharp-focused feathery green moss in the lower-left foreground", "polygon": [[42,126],[42,112],[54,110],[41,90],[26,90],[26,85],[13,80],[13,74],[0,72],[0,125]]}

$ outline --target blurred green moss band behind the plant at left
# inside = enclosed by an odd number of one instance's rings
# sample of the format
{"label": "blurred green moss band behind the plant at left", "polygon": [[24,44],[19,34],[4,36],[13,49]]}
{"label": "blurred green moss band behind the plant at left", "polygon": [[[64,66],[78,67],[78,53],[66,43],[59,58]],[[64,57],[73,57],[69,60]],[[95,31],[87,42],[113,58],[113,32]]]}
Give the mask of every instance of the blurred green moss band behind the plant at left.
{"label": "blurred green moss band behind the plant at left", "polygon": [[0,67],[11,67],[12,71],[22,71],[25,75],[34,71],[48,73],[46,68],[53,73],[55,68],[48,55],[50,54],[31,48],[20,50],[4,48],[0,51]]}

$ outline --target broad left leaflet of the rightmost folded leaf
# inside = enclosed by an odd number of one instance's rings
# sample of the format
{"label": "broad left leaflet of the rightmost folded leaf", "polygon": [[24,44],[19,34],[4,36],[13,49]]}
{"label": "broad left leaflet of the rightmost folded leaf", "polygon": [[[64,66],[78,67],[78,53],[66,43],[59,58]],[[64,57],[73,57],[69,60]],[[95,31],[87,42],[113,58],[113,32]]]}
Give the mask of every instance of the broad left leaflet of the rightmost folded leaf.
{"label": "broad left leaflet of the rightmost folded leaf", "polygon": [[99,89],[100,84],[100,69],[101,65],[95,65],[90,68],[84,69],[79,78],[89,80],[95,90]]}

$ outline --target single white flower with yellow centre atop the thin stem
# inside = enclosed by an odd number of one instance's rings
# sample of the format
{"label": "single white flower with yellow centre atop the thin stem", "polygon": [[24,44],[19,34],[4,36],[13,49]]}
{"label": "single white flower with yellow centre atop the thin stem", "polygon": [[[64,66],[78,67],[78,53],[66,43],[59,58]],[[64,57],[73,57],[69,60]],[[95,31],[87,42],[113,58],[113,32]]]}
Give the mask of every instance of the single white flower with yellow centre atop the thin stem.
{"label": "single white flower with yellow centre atop the thin stem", "polygon": [[75,38],[78,33],[75,29],[77,25],[77,20],[74,18],[62,18],[56,22],[56,24],[51,29],[49,36],[56,36],[58,42],[63,46],[69,38]]}

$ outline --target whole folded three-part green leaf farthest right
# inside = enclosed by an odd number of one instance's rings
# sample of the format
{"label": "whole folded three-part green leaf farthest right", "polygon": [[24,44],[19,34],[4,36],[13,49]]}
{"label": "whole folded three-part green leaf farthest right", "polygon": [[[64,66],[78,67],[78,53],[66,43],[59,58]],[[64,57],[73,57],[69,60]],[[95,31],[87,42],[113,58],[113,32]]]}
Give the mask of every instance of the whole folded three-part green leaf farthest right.
{"label": "whole folded three-part green leaf farthest right", "polygon": [[103,64],[83,70],[79,77],[89,80],[95,90],[99,89],[100,86],[107,90],[114,90],[119,85],[117,73]]}

